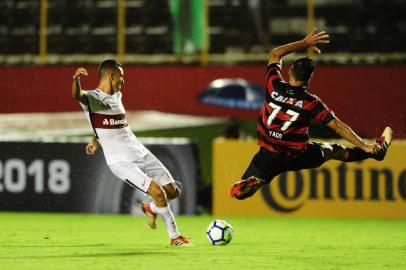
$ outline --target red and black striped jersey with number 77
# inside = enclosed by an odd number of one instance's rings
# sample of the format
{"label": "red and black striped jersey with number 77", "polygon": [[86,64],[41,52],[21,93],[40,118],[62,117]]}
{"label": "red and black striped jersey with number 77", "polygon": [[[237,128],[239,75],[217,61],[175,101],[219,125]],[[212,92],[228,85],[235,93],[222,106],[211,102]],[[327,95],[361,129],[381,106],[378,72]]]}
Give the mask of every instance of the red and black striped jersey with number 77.
{"label": "red and black striped jersey with number 77", "polygon": [[258,117],[258,144],[271,152],[300,153],[309,140],[311,120],[327,124],[334,113],[306,87],[291,86],[279,64],[270,64],[266,76],[266,99]]}

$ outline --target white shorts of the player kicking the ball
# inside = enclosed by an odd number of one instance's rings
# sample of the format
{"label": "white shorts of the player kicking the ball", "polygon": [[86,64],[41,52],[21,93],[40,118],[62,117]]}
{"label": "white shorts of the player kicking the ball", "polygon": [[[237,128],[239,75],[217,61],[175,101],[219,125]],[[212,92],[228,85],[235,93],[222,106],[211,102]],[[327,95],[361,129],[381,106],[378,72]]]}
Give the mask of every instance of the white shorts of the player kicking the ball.
{"label": "white shorts of the player kicking the ball", "polygon": [[151,152],[137,161],[112,164],[109,167],[115,176],[145,193],[152,180],[161,186],[175,182],[168,169]]}

